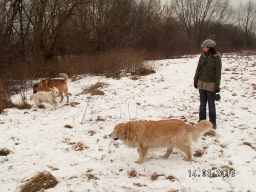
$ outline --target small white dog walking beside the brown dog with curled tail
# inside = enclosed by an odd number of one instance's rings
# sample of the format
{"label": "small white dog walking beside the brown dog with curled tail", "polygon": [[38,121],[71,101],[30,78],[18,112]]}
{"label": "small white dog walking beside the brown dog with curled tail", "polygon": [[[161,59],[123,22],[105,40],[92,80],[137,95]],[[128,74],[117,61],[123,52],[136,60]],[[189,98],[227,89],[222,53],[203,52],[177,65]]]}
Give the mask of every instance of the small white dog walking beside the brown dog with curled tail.
{"label": "small white dog walking beside the brown dog with curled tail", "polygon": [[57,107],[56,98],[59,97],[59,90],[55,87],[53,89],[50,88],[50,91],[39,91],[33,95],[30,95],[30,100],[32,101],[33,98],[35,98],[35,104],[38,108],[39,104],[42,102],[50,103],[53,108]]}

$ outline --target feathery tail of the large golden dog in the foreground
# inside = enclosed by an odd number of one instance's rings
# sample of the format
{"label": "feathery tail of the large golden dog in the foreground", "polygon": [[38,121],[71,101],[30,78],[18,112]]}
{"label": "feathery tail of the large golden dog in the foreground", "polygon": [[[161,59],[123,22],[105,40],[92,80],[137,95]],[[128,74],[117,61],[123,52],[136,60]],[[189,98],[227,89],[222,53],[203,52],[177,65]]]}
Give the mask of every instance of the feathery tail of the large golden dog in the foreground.
{"label": "feathery tail of the large golden dog in the foreground", "polygon": [[197,139],[200,137],[200,134],[202,132],[206,132],[209,129],[211,129],[212,124],[210,121],[208,120],[202,120],[199,121],[199,123],[196,126],[193,126],[190,130],[191,134],[192,134],[192,140],[193,141],[197,141]]}

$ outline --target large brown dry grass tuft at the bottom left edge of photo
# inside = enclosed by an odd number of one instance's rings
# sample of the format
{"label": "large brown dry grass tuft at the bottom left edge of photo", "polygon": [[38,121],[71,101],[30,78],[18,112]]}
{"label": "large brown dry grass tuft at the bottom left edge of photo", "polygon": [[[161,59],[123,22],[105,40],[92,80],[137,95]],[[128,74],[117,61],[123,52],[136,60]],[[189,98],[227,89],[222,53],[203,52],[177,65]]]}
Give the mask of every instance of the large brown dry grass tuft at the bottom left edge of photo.
{"label": "large brown dry grass tuft at the bottom left edge of photo", "polygon": [[57,179],[50,172],[38,172],[29,182],[19,186],[19,188],[20,192],[36,192],[53,188],[57,184]]}

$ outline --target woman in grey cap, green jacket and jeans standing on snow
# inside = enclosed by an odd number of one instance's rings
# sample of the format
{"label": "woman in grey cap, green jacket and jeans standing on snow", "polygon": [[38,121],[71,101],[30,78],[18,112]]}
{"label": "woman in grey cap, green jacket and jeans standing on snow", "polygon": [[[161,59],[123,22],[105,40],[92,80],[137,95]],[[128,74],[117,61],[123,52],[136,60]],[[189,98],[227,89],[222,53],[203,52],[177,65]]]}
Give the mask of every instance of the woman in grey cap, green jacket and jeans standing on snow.
{"label": "woman in grey cap, green jacket and jeans standing on snow", "polygon": [[200,94],[199,121],[206,119],[208,101],[209,120],[214,129],[217,128],[214,96],[220,92],[221,81],[221,54],[216,52],[215,46],[216,42],[211,39],[203,42],[201,47],[204,53],[200,56],[194,77],[194,87],[199,89]]}

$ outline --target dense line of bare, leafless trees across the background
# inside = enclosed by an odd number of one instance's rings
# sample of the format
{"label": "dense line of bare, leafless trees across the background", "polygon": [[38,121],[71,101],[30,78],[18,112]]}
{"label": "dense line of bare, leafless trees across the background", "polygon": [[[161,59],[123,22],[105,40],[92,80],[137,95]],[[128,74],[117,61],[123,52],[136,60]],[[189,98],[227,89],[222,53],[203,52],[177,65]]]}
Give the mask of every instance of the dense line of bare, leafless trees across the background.
{"label": "dense line of bare, leafless trees across the background", "polygon": [[[242,2],[242,1],[241,1]],[[256,48],[256,3],[228,0],[0,0],[0,70],[120,50],[151,58]]]}

